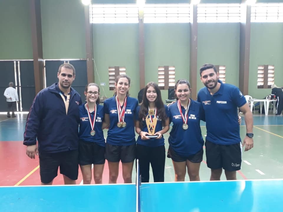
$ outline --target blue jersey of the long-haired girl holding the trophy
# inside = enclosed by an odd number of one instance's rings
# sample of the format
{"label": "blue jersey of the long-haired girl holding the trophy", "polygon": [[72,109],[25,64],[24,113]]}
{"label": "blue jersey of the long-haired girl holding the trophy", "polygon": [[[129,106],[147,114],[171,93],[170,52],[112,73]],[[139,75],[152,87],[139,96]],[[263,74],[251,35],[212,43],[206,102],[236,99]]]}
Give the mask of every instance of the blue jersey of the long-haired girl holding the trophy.
{"label": "blue jersey of the long-haired girl holding the trophy", "polygon": [[[164,107],[165,107],[166,115],[167,115],[167,117],[169,117],[169,111],[168,111],[167,105],[164,105]],[[140,120],[139,119],[139,110],[140,110],[140,106],[138,106],[136,108],[136,120]],[[163,129],[162,120],[159,119],[158,116],[157,116],[157,123],[156,123],[156,127],[155,127],[155,132],[158,132],[162,129]],[[145,122],[144,119],[142,120],[141,131],[148,132],[147,125],[146,125],[146,122]],[[160,139],[151,138],[151,139],[148,139],[148,140],[142,140],[141,136],[139,135],[138,139],[136,140],[136,143],[141,144],[141,145],[145,145],[145,146],[149,146],[149,147],[157,147],[157,146],[164,145],[164,138],[163,138],[163,135],[162,135],[162,138],[160,138]]]}

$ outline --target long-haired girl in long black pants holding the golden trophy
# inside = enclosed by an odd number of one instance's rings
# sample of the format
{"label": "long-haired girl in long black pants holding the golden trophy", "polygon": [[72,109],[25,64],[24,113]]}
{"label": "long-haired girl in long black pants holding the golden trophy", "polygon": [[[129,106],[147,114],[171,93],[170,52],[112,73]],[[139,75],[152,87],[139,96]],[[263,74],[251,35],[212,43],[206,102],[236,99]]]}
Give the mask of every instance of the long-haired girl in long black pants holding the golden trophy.
{"label": "long-haired girl in long black pants holding the golden trophy", "polygon": [[169,130],[169,113],[163,104],[158,85],[149,82],[142,103],[136,109],[136,156],[139,159],[141,182],[149,182],[149,164],[154,182],[164,182],[165,147],[163,134]]}

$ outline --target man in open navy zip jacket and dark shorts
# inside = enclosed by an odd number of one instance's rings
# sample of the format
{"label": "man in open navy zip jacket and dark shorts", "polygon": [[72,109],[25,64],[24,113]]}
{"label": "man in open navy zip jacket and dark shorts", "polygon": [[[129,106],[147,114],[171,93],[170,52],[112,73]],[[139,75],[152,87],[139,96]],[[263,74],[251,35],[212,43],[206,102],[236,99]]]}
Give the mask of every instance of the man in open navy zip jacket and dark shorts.
{"label": "man in open navy zip jacket and dark shorts", "polygon": [[71,88],[75,68],[62,64],[57,77],[58,83],[41,90],[34,98],[24,132],[27,156],[35,158],[39,154],[42,185],[52,185],[58,167],[65,184],[76,184],[78,179],[78,107],[82,101]]}

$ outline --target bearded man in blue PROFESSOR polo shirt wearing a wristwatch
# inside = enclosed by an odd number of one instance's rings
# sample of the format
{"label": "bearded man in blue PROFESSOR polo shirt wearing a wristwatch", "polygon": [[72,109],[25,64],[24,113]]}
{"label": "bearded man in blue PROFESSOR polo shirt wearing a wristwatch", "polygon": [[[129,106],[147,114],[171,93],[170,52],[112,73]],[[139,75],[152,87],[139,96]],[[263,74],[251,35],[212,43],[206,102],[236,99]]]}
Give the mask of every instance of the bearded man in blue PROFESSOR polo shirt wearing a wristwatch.
{"label": "bearded man in blue PROFESSOR polo shirt wearing a wristwatch", "polygon": [[[210,180],[220,180],[222,169],[227,180],[236,180],[236,171],[241,169],[242,147],[245,145],[245,151],[254,147],[251,110],[236,86],[219,80],[214,65],[200,67],[200,80],[205,85],[198,92],[198,101],[205,111],[205,153],[207,166],[211,169]],[[242,145],[237,107],[243,112],[246,122],[246,137]]]}

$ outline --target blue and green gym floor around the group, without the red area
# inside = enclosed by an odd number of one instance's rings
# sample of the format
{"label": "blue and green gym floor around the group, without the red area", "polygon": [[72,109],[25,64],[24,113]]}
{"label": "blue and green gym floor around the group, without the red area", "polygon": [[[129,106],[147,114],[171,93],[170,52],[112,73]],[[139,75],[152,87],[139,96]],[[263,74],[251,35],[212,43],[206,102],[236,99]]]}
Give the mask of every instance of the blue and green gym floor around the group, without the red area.
{"label": "blue and green gym floor around the group, without the red area", "polygon": [[[237,179],[274,179],[283,178],[283,116],[254,115],[254,148],[242,153],[241,171],[237,172]],[[8,119],[6,115],[0,115],[0,142],[22,141],[27,115],[17,115]],[[171,128],[170,128],[171,129]],[[203,138],[206,136],[205,122],[201,122]],[[165,149],[168,150],[168,137],[170,130],[164,134]],[[104,130],[107,136],[107,130]],[[244,117],[240,126],[240,134],[243,139],[246,135]],[[136,135],[137,137],[137,135]],[[205,151],[205,149],[204,149]],[[205,153],[200,166],[200,180],[210,179],[210,169],[206,166]],[[135,181],[135,169],[133,170],[133,182]],[[150,170],[150,182],[153,182]],[[175,174],[172,160],[166,158],[165,181],[174,181]],[[224,173],[221,177],[225,180]],[[189,181],[188,175],[185,178]]]}

